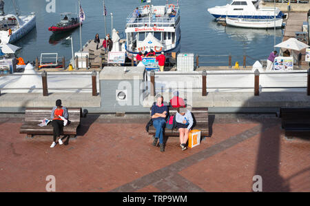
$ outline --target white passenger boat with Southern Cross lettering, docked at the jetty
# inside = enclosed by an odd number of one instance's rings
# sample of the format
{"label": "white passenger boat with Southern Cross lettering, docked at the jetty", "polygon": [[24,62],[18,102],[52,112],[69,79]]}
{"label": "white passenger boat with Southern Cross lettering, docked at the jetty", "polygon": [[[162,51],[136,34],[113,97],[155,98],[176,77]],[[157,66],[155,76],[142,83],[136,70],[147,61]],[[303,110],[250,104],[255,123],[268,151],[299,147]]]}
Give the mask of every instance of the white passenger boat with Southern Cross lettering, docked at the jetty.
{"label": "white passenger boat with Southern Cross lettering, docked at the jetty", "polygon": [[178,4],[154,6],[151,0],[138,8],[141,17],[130,14],[127,18],[125,50],[128,58],[138,52],[154,50],[178,52],[180,50],[180,10]]}

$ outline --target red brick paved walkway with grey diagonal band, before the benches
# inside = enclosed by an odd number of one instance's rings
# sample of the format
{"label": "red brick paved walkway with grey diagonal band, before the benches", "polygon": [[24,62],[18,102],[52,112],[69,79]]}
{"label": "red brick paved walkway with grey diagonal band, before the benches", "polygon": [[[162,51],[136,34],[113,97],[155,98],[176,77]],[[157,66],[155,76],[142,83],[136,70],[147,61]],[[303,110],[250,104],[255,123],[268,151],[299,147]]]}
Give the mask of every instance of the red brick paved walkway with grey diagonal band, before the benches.
{"label": "red brick paved walkway with grey diagonal band, before the benches", "polygon": [[147,119],[131,123],[88,116],[79,136],[50,148],[51,136],[25,138],[21,119],[0,118],[0,192],[310,192],[309,138],[287,141],[272,116],[210,116],[211,137],[180,150],[169,138],[166,152],[153,147]]}

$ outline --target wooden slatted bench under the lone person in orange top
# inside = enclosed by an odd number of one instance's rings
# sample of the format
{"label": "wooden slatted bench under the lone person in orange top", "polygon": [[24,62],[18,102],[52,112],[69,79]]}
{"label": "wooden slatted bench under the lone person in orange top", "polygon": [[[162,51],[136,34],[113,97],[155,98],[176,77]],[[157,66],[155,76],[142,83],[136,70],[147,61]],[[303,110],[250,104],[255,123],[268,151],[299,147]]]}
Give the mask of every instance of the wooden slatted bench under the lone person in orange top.
{"label": "wooden slatted bench under the lone person in orange top", "polygon": [[[67,108],[69,113],[69,123],[63,127],[62,135],[76,136],[76,130],[80,125],[82,109],[77,107]],[[20,134],[27,134],[27,137],[33,138],[34,135],[52,135],[52,123],[45,127],[38,126],[43,119],[50,119],[52,107],[49,108],[26,108],[25,121],[21,125]]]}

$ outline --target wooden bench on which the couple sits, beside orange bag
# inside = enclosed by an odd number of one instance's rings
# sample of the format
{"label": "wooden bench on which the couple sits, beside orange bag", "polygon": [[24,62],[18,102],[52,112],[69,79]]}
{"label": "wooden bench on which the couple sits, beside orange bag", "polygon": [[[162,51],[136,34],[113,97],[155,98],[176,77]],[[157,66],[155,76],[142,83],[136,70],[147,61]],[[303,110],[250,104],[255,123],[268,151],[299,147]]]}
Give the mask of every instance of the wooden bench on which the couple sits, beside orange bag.
{"label": "wooden bench on which the couple sits, beside orange bag", "polygon": [[[209,115],[207,107],[194,107],[192,108],[192,116],[194,119],[193,130],[200,130],[201,136],[209,136]],[[169,108],[169,114],[175,115],[176,108]],[[149,135],[155,135],[156,129],[154,125],[149,127]],[[165,136],[179,136],[178,129],[169,130],[165,129]]]}

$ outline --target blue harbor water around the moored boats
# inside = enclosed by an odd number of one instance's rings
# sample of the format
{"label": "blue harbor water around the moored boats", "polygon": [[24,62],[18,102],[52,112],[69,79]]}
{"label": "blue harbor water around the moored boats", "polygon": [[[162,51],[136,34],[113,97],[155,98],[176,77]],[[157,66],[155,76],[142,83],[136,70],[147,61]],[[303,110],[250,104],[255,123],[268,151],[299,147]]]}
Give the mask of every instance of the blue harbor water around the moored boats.
{"label": "blue harbor water around the moored boats", "polygon": [[[11,1],[5,1],[5,12],[14,10]],[[22,47],[17,52],[18,56],[22,56],[25,61],[34,61],[36,56],[40,56],[42,52],[57,52],[59,56],[65,56],[68,61],[72,58],[71,42],[66,37],[72,36],[74,43],[74,52],[80,49],[79,28],[72,32],[64,34],[52,34],[48,28],[60,21],[62,12],[76,13],[78,9],[77,0],[60,1],[55,0],[55,12],[47,12],[46,6],[48,2],[28,0],[19,0],[19,7],[22,14],[35,12],[37,14],[37,28],[34,28],[27,36],[13,43]],[[170,2],[170,1],[169,1]],[[173,3],[176,1],[172,1]],[[153,0],[155,5],[164,5],[166,0]],[[246,54],[247,64],[251,65],[256,60],[267,59],[273,50],[274,31],[231,28],[219,25],[214,17],[207,12],[207,8],[214,6],[224,6],[227,0],[180,0],[180,28],[181,41],[180,52],[194,53],[200,55],[229,55],[232,54],[232,62],[242,61],[242,55]],[[126,18],[133,12],[136,6],[140,6],[139,0],[105,0],[107,8],[106,22],[107,33],[111,30],[111,15],[113,13],[113,27],[118,30],[123,37],[125,33]],[[89,39],[94,39],[96,33],[99,37],[105,36],[105,23],[103,18],[103,1],[102,0],[81,0],[81,6],[85,12],[85,22],[82,30],[82,44]],[[282,41],[282,30],[276,30],[276,43]],[[228,61],[225,56],[209,58],[203,61],[216,61],[218,63],[205,63],[204,65],[227,65],[224,61]],[[241,64],[241,63],[240,63]],[[201,65],[201,64],[200,64]]]}

